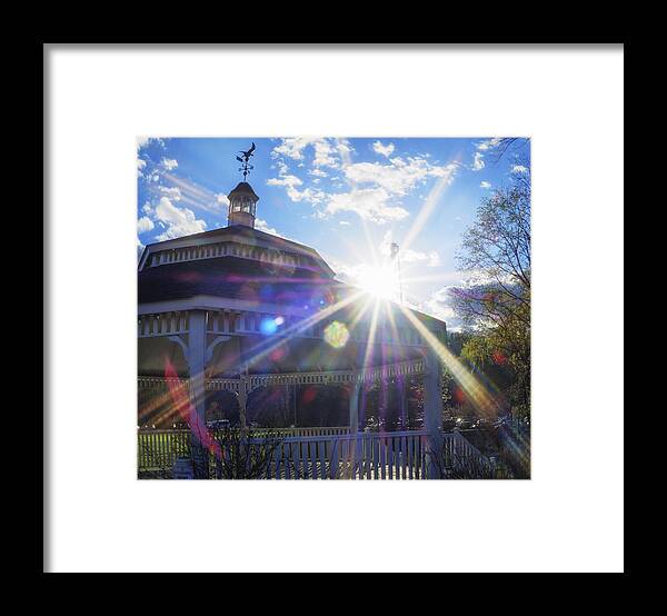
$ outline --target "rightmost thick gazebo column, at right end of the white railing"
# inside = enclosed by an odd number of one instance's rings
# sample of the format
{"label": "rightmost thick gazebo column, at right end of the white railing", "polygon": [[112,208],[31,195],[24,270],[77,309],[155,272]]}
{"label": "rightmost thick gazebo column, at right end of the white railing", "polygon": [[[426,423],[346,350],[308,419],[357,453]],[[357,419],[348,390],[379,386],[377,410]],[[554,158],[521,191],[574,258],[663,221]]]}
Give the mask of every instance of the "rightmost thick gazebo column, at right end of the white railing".
{"label": "rightmost thick gazebo column, at right end of the white railing", "polygon": [[438,479],[439,465],[432,459],[442,451],[442,368],[440,358],[430,348],[426,351],[424,375],[424,427],[426,437],[427,477]]}

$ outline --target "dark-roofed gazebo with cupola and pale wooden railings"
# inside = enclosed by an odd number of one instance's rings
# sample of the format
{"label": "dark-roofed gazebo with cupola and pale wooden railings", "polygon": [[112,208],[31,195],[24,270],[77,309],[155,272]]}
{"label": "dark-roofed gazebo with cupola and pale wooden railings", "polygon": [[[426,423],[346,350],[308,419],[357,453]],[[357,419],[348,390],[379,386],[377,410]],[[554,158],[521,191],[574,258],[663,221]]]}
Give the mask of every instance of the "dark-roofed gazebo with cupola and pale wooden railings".
{"label": "dark-roofed gazebo with cupola and pale wooden railings", "polygon": [[[252,391],[331,385],[349,395],[348,426],[293,429],[281,445],[289,455],[295,444],[327,440],[316,455],[322,476],[329,476],[330,456],[366,439],[360,450],[364,459],[375,460],[370,475],[400,475],[402,465],[402,474],[410,477],[435,476],[428,453],[442,447],[441,359],[428,338],[445,344],[445,322],[369,297],[336,280],[313,248],[256,229],[258,200],[241,181],[229,193],[227,227],[143,249],[138,274],[140,434],[150,438],[151,430],[142,425],[147,409],[161,408],[162,424],[185,420],[180,434],[190,430],[201,439],[210,391],[237,398],[245,430]],[[424,378],[424,427],[379,436],[361,431],[365,384],[416,375]],[[399,439],[398,448],[387,449],[387,439]],[[397,451],[398,463],[392,457]]]}

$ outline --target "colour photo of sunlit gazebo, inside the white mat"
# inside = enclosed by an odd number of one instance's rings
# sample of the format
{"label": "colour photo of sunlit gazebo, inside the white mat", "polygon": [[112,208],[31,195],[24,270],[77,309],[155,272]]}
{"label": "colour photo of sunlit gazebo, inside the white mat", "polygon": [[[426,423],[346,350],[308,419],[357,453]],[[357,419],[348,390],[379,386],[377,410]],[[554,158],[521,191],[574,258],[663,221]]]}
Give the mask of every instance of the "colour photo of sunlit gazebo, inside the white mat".
{"label": "colour photo of sunlit gazebo, inside the white mat", "polygon": [[138,479],[530,479],[530,136],[137,136]]}

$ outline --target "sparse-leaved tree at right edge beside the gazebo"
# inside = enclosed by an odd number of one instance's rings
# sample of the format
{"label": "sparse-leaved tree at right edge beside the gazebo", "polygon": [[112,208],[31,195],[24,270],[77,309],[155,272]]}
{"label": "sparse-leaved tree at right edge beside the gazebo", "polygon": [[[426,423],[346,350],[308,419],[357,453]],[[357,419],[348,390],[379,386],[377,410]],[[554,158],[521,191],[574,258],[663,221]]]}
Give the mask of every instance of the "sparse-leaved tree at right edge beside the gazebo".
{"label": "sparse-leaved tree at right edge beside the gazebo", "polygon": [[508,396],[519,416],[530,410],[530,175],[482,200],[457,254],[470,281],[454,288],[454,309],[475,334],[461,357],[511,369]]}

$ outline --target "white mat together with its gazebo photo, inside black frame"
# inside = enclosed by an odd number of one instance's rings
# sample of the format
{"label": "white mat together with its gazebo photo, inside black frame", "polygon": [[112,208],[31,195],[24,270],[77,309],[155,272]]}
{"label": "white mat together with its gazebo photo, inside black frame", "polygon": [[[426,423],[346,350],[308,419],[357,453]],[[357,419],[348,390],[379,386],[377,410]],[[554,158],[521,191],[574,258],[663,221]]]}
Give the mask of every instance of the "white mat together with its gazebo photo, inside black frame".
{"label": "white mat together with its gazebo photo, inside black frame", "polygon": [[44,43],[44,573],[627,573],[624,50]]}

